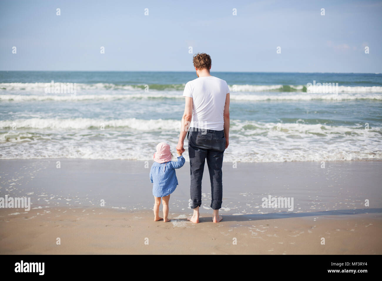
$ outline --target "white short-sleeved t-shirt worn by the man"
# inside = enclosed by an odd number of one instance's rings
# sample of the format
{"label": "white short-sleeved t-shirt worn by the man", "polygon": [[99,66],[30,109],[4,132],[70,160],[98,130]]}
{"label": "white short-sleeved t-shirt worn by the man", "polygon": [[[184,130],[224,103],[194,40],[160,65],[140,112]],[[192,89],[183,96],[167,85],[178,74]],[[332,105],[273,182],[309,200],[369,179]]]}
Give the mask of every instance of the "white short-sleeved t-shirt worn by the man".
{"label": "white short-sleeved t-shirt worn by the man", "polygon": [[227,82],[215,76],[198,77],[187,82],[183,96],[192,97],[191,127],[224,130],[225,98],[230,92]]}

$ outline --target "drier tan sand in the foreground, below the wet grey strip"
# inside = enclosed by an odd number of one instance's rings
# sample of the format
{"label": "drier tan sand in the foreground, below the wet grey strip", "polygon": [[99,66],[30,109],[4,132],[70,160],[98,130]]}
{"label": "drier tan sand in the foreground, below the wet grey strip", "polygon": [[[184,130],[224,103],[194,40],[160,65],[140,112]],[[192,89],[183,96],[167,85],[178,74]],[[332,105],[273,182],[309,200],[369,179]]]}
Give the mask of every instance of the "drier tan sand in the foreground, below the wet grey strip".
{"label": "drier tan sand in the foreground, below the wet grey strip", "polygon": [[179,214],[163,223],[152,221],[150,211],[106,208],[11,212],[0,213],[1,254],[382,253],[382,216],[377,213],[341,218],[325,212],[295,218],[227,215],[219,224],[210,217],[193,224]]}

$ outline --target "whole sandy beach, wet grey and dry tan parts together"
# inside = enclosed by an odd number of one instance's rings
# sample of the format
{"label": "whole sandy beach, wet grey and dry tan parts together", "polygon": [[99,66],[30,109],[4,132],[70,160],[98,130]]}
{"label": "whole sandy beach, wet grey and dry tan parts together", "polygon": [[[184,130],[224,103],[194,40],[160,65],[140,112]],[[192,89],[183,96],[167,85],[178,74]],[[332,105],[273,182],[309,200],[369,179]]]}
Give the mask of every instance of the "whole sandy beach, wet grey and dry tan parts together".
{"label": "whole sandy beach, wet grey and dry tan parts together", "polygon": [[[326,162],[324,169],[317,162],[237,168],[225,162],[218,224],[210,217],[208,177],[201,223],[186,220],[192,213],[188,162],[177,171],[172,221],[163,223],[153,221],[144,162],[57,161],[0,160],[1,197],[31,198],[30,211],[0,209],[1,254],[382,253],[380,161]],[[269,195],[293,197],[294,210],[263,208],[261,198]]]}

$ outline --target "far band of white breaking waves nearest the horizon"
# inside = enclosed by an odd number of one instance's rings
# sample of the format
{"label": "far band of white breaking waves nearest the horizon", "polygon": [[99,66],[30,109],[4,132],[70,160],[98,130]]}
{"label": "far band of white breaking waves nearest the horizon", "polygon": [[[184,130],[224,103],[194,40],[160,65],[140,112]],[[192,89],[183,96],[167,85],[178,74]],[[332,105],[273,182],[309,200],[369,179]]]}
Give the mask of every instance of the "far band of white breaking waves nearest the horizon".
{"label": "far band of white breaking waves nearest the horizon", "polygon": [[[236,101],[287,101],[327,100],[346,101],[358,99],[382,100],[381,86],[338,86],[338,94],[328,91],[322,94],[302,92],[304,85],[288,85],[292,91],[283,92],[283,85],[233,85],[231,99]],[[184,99],[180,90],[150,89],[145,92],[137,85],[115,85],[112,83],[76,84],[76,95],[45,93],[46,83],[0,83],[0,101],[114,101],[120,99]],[[176,87],[175,87],[176,88]],[[308,87],[308,89],[310,89]],[[235,90],[235,91],[233,91]],[[326,90],[326,89],[325,89]],[[2,94],[4,93],[4,94]]]}

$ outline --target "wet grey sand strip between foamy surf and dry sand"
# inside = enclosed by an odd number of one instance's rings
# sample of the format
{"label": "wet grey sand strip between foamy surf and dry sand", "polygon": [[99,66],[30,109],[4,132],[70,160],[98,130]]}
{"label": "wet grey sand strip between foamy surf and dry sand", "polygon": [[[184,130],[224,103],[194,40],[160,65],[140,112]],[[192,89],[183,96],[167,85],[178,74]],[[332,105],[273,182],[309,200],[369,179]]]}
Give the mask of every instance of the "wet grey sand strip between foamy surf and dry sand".
{"label": "wet grey sand strip between foamy surf and dry sand", "polygon": [[[59,161],[59,167],[57,164]],[[31,208],[92,207],[151,210],[149,168],[153,161],[87,159],[0,159],[0,197],[30,197]],[[264,214],[382,208],[382,161],[223,163],[225,214]],[[189,207],[189,162],[176,170],[179,185],[170,211]],[[207,165],[202,180],[203,210],[211,211]],[[262,208],[262,198],[294,198],[294,208]],[[345,208],[346,207],[346,208]],[[289,211],[288,211],[289,210]]]}

